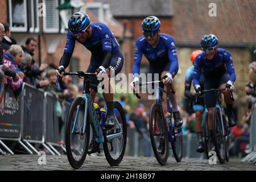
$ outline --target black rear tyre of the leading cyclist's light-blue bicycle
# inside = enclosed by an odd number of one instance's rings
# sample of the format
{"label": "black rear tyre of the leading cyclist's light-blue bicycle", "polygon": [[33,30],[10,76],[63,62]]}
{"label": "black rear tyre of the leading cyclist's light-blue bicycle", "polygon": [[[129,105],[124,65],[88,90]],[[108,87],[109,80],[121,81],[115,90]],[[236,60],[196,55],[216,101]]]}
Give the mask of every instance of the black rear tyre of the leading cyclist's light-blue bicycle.
{"label": "black rear tyre of the leading cyclist's light-blue bicycle", "polygon": [[123,107],[121,106],[121,104],[119,104],[119,102],[117,101],[114,101],[113,104],[114,104],[114,109],[117,109],[121,115],[121,122],[122,122],[121,125],[123,130],[121,152],[119,152],[120,154],[117,159],[114,159],[112,157],[109,151],[110,142],[106,139],[106,130],[103,131],[104,138],[105,138],[103,148],[104,148],[104,154],[105,154],[106,160],[108,161],[110,166],[118,166],[121,163],[123,156],[125,155],[125,148],[126,148],[126,141],[127,141],[127,124],[126,124],[126,118],[125,118],[125,111],[123,111]]}

